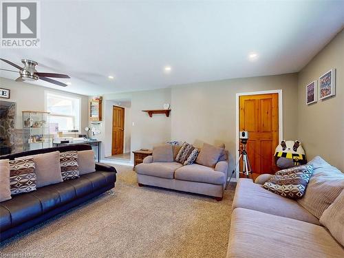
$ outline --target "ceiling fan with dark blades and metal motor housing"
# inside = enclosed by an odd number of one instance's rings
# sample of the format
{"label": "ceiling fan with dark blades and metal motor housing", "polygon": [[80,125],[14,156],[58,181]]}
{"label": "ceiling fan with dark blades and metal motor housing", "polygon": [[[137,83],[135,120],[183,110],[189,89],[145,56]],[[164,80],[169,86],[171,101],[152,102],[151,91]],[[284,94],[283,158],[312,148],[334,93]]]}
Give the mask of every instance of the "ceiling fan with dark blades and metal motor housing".
{"label": "ceiling fan with dark blades and metal motor housing", "polygon": [[[24,80],[45,80],[48,83],[53,83],[58,86],[63,86],[66,87],[67,84],[61,83],[58,80],[53,80],[51,78],[47,77],[52,77],[52,78],[70,78],[69,76],[65,74],[52,74],[52,73],[47,73],[47,72],[37,72],[36,71],[36,65],[38,65],[37,62],[28,60],[28,59],[21,59],[21,63],[24,64],[24,67],[20,67],[19,65],[16,65],[15,63],[12,63],[11,61],[8,61],[6,59],[0,58],[1,61],[8,63],[9,65],[12,65],[13,67],[16,67],[19,69],[19,77],[16,79],[16,81],[24,81]],[[8,72],[17,72],[9,69],[0,69],[3,71],[8,71]]]}

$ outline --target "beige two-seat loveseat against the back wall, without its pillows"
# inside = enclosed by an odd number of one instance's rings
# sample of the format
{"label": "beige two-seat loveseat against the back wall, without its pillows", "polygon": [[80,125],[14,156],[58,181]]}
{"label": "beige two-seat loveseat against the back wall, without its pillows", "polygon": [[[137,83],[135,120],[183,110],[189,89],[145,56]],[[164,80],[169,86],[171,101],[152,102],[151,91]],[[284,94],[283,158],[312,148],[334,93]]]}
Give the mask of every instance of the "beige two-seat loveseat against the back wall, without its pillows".
{"label": "beige two-seat loveseat against the back wall, without its pillows", "polygon": [[200,164],[183,166],[178,162],[153,162],[144,158],[135,167],[139,186],[159,186],[166,189],[199,193],[222,200],[227,180],[228,161],[217,162],[215,168]]}

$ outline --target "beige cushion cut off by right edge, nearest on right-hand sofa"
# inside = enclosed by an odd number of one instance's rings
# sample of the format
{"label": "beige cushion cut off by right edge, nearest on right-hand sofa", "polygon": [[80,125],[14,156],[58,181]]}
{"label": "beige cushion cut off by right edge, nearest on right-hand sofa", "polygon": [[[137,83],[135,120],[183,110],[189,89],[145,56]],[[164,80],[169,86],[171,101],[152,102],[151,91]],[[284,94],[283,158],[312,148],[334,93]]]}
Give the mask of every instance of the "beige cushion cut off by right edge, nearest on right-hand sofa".
{"label": "beige cushion cut off by right edge, nearest on right-hand sofa", "polygon": [[320,222],[344,246],[344,191],[323,212]]}

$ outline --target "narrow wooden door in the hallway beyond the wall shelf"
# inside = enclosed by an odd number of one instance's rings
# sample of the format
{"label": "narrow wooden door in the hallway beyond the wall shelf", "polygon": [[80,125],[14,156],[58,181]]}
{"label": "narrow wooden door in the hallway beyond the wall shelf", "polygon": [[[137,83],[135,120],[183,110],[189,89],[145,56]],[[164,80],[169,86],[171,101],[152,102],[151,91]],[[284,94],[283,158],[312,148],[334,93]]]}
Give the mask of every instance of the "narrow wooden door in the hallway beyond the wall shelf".
{"label": "narrow wooden door in the hallway beyond the wall shelf", "polygon": [[125,140],[125,109],[112,107],[112,155],[122,154]]}

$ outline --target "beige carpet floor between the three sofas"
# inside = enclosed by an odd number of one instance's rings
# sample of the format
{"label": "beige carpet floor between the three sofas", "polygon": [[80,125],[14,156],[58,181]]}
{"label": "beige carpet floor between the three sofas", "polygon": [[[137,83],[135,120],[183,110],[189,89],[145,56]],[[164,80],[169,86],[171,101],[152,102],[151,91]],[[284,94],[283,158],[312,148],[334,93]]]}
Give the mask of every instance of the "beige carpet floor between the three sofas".
{"label": "beige carpet floor between the three sofas", "polygon": [[224,200],[138,187],[118,166],[107,193],[5,241],[1,257],[226,257],[235,185]]}

